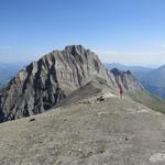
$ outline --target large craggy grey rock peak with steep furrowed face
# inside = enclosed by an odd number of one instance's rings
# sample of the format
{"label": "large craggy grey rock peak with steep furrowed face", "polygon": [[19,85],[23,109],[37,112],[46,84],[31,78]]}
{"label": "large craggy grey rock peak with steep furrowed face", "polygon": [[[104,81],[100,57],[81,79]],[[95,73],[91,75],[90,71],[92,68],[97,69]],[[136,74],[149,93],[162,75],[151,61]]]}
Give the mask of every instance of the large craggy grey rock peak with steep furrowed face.
{"label": "large craggy grey rock peak with steep furrowed face", "polygon": [[[105,79],[113,89],[119,84],[129,89],[124,79],[131,76],[127,75],[129,73],[119,76],[106,70],[98,56],[81,45],[53,51],[19,72],[0,91],[0,122],[50,110],[96,77]],[[130,78],[127,82],[131,80]]]}

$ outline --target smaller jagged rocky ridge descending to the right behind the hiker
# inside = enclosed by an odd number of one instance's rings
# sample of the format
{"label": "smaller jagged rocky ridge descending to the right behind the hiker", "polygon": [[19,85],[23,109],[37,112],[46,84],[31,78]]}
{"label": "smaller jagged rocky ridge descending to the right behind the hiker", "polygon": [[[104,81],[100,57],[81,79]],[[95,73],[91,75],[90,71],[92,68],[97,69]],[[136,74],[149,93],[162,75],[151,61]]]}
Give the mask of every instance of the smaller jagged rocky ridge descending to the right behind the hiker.
{"label": "smaller jagged rocky ridge descending to the right behind the hiker", "polygon": [[117,84],[122,86],[124,95],[129,96],[136,102],[147,106],[148,108],[165,113],[164,99],[148,92],[141,82],[131,74],[131,72],[122,72],[118,68],[111,69],[116,77]]}

